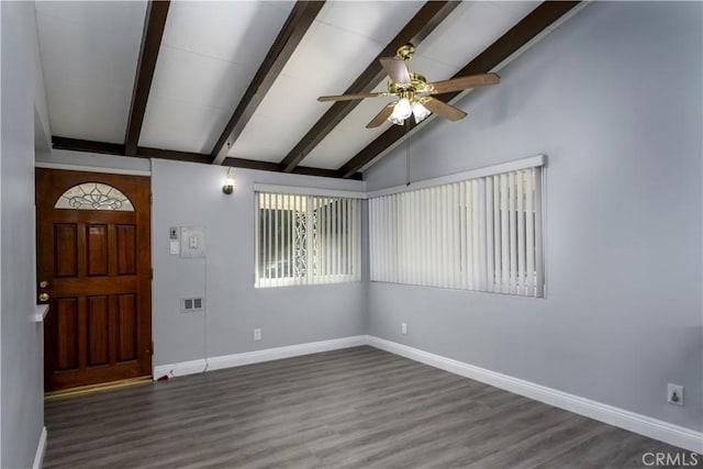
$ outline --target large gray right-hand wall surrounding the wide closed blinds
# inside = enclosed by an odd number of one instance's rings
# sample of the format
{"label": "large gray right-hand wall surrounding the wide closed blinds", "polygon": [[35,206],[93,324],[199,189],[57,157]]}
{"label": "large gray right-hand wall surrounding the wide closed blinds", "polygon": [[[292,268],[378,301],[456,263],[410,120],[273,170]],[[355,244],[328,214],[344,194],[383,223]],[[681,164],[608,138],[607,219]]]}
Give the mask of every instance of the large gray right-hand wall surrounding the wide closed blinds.
{"label": "large gray right-hand wall surrounding the wide closed blinds", "polygon": [[[592,3],[431,123],[414,180],[548,155],[548,298],[373,282],[369,333],[703,429],[702,10]],[[404,148],[366,176],[402,185]]]}

